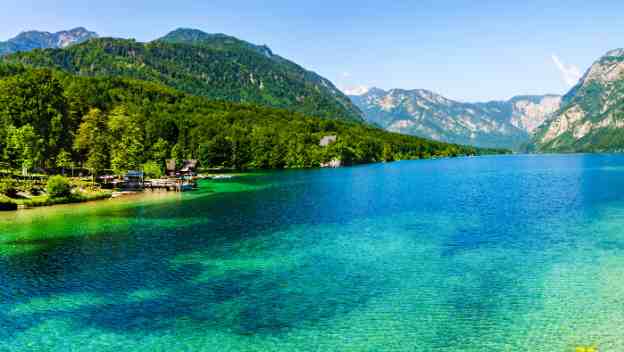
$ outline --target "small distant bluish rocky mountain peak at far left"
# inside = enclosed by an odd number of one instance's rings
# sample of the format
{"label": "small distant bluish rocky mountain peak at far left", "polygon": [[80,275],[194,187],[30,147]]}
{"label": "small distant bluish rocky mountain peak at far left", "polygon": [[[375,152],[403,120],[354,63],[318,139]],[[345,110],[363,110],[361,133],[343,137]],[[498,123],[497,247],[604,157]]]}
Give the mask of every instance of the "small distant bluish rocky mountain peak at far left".
{"label": "small distant bluish rocky mountain peak at far left", "polygon": [[34,49],[66,48],[72,44],[97,38],[97,33],[78,27],[56,33],[28,31],[6,42],[0,42],[0,56]]}

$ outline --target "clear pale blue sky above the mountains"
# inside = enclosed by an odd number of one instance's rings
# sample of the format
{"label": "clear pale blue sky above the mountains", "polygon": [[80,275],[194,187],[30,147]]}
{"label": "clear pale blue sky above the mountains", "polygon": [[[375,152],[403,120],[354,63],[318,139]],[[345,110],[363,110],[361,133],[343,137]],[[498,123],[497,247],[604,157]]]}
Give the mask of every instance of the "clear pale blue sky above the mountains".
{"label": "clear pale blue sky above the mountains", "polygon": [[624,1],[3,0],[0,39],[84,26],[146,41],[231,34],[339,87],[425,88],[463,101],[564,93],[624,47]]}

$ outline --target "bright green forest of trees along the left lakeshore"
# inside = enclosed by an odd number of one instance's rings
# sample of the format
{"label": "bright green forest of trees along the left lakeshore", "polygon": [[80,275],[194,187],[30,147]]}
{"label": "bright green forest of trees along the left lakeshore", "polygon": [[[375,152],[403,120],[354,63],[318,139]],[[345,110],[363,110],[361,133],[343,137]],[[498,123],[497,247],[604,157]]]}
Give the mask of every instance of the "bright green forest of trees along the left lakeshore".
{"label": "bright green forest of trees along the left lakeshore", "polygon": [[[324,136],[337,141],[321,147]],[[14,169],[85,167],[304,168],[495,153],[359,123],[211,101],[127,78],[73,76],[0,64],[0,159]]]}

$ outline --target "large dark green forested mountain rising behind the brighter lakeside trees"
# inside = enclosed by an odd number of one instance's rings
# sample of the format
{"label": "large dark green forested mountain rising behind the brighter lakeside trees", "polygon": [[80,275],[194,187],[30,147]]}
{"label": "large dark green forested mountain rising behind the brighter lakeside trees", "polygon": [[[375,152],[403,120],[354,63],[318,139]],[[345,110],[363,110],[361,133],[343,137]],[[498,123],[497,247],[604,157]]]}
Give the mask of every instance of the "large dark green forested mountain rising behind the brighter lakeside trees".
{"label": "large dark green forested mountain rising behind the brighter lakeside trees", "polygon": [[5,60],[81,76],[130,77],[215,100],[362,121],[361,111],[329,80],[266,46],[224,34],[178,29],[149,43],[101,38]]}

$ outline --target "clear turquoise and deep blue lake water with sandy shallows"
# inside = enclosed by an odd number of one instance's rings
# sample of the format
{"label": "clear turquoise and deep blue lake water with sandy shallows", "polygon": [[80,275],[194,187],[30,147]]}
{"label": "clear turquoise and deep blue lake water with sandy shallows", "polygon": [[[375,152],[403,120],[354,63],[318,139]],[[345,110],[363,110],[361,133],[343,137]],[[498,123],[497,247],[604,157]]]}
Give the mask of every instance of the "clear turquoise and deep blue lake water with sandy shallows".
{"label": "clear turquoise and deep blue lake water with sandy shallows", "polygon": [[0,214],[0,351],[578,346],[624,351],[623,156],[282,172]]}

